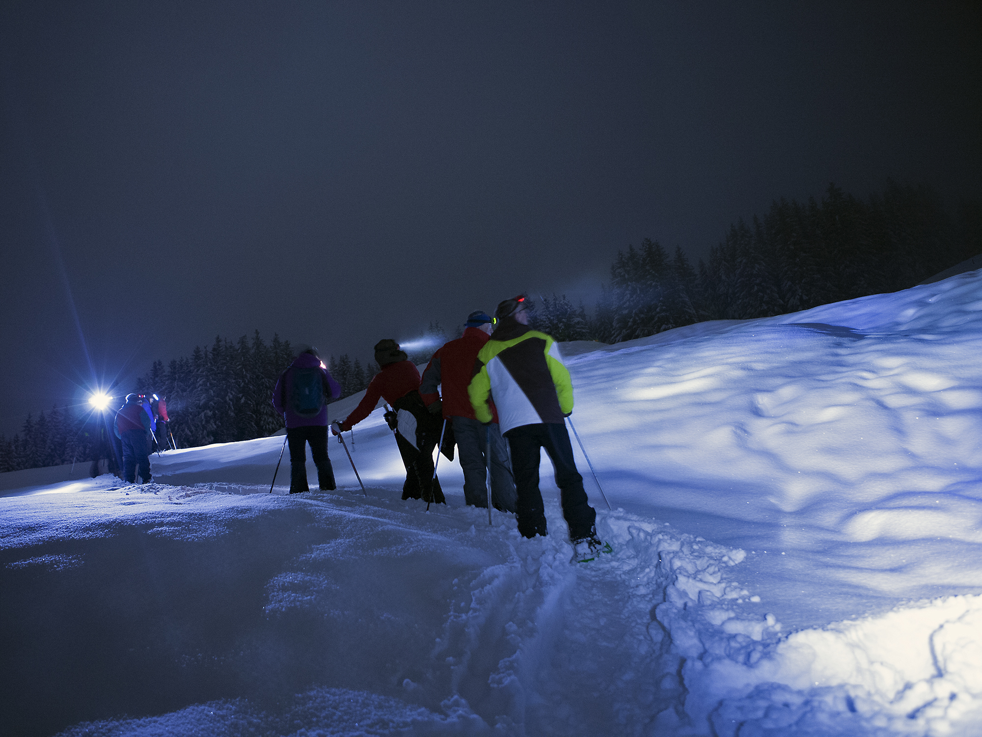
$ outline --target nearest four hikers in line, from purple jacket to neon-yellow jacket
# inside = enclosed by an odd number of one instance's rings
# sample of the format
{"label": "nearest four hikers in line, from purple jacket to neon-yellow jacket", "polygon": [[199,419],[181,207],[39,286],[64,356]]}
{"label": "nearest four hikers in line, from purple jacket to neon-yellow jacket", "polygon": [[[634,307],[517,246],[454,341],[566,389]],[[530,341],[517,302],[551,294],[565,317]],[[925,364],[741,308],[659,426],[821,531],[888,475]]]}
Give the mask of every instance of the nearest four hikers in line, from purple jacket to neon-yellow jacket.
{"label": "nearest four hikers in line, from purple jacket to neon-yellow jacket", "polygon": [[[545,508],[539,490],[541,449],[556,471],[563,516],[575,548],[574,559],[595,555],[596,511],[589,505],[576,471],[565,418],[573,413],[573,382],[555,340],[528,326],[529,302],[519,295],[498,305],[495,316],[471,312],[464,334],[444,344],[422,376],[395,340],[375,345],[380,370],[362,400],[343,421],[330,425],[338,435],[367,418],[380,399],[406,466],[403,499],[445,503],[434,472],[433,450],[453,460],[454,447],[464,470],[464,500],[487,506],[488,469],[491,503],[518,518],[525,538],[546,535]],[[273,406],[283,414],[290,447],[290,492],[308,490],[306,445],[317,467],[322,490],[337,484],[327,452],[327,398],[341,387],[315,348],[301,349],[273,390]],[[490,454],[490,457],[488,457]],[[589,558],[585,558],[589,559]]]}

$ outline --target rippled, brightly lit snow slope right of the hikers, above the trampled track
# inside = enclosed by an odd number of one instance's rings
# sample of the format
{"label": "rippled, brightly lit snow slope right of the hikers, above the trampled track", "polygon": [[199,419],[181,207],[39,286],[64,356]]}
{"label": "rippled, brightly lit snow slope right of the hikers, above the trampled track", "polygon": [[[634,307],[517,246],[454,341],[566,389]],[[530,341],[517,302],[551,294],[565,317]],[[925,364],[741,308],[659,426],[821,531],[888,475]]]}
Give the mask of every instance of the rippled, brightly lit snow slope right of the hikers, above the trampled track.
{"label": "rippled, brightly lit snow slope right of the hikers, above the trampled track", "polygon": [[614,503],[752,551],[793,628],[975,593],[980,296],[972,272],[573,356],[574,418]]}

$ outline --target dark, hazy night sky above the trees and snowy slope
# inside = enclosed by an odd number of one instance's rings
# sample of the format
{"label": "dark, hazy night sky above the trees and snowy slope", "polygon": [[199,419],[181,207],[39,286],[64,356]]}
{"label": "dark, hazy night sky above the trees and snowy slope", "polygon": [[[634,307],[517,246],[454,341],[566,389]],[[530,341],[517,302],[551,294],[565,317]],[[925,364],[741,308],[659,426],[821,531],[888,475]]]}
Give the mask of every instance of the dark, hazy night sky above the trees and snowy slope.
{"label": "dark, hazy night sky above the trees and snowy slope", "polygon": [[830,182],[982,197],[980,4],[7,2],[0,431],[258,328],[592,307]]}

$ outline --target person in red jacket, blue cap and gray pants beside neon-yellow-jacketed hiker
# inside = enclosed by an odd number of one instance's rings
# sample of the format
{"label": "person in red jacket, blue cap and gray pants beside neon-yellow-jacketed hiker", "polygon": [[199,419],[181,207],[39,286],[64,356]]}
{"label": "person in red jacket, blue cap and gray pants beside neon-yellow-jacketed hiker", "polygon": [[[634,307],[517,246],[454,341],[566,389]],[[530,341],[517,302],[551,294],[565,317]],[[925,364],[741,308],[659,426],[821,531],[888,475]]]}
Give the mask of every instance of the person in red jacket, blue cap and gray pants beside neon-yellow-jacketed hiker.
{"label": "person in red jacket, blue cap and gray pants beside neon-yellow-jacketed hiker", "polygon": [[[508,445],[501,436],[498,413],[489,402],[492,422],[483,425],[474,415],[474,408],[467,396],[467,384],[477,353],[488,342],[492,319],[485,312],[471,312],[464,322],[464,335],[445,343],[430,359],[423,371],[419,396],[426,409],[433,415],[445,418],[451,426],[444,430],[443,448],[448,458],[454,460],[454,442],[461,454],[464,469],[464,501],[475,507],[487,507],[488,459],[487,433],[491,433],[491,503],[506,512],[515,512],[518,497],[515,493],[515,477],[508,459]],[[442,385],[443,396],[437,392]],[[486,429],[485,429],[486,427]],[[452,439],[448,438],[452,435]]]}

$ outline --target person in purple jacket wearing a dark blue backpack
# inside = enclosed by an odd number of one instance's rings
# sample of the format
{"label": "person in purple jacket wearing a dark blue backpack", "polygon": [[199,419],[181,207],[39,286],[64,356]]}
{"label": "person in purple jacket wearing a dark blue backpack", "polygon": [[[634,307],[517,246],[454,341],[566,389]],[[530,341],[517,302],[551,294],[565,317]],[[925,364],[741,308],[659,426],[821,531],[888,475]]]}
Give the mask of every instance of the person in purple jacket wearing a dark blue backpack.
{"label": "person in purple jacket wearing a dark blue backpack", "polygon": [[290,493],[309,491],[306,445],[317,467],[321,491],[333,491],[334,469],[327,455],[327,400],[341,396],[341,385],[328,372],[316,348],[300,346],[300,355],[280,374],[273,389],[273,407],[287,423],[290,446]]}

